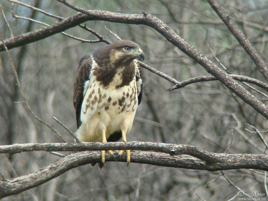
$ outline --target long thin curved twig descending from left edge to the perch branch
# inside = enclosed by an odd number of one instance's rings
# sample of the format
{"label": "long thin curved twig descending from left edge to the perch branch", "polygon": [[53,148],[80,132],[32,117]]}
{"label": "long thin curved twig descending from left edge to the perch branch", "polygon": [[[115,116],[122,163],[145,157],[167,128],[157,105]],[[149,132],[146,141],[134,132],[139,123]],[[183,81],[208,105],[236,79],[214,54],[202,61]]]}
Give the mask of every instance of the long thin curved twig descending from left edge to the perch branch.
{"label": "long thin curved twig descending from left edge to the perch branch", "polygon": [[24,93],[23,93],[23,91],[22,91],[22,89],[21,89],[20,80],[18,79],[18,73],[17,73],[17,71],[16,71],[16,69],[15,69],[15,66],[14,66],[14,63],[13,63],[13,61],[12,61],[12,58],[11,58],[11,56],[10,56],[10,54],[9,54],[9,51],[8,51],[6,45],[5,45],[5,42],[4,42],[3,38],[2,38],[2,34],[1,34],[1,32],[0,32],[0,37],[1,37],[1,40],[2,40],[2,42],[3,42],[4,48],[5,48],[5,50],[6,50],[7,53],[8,53],[8,56],[9,56],[9,59],[10,59],[10,62],[11,62],[11,67],[12,67],[12,70],[13,70],[13,72],[14,72],[14,76],[15,76],[15,79],[16,79],[16,83],[17,83],[18,88],[19,88],[19,90],[20,90],[20,93],[21,93],[21,95],[22,95],[22,97],[23,97],[23,100],[24,100],[24,102],[25,102],[25,104],[26,104],[26,106],[27,106],[27,109],[30,111],[30,113],[32,114],[32,116],[33,116],[34,118],[36,118],[38,121],[42,122],[44,125],[46,125],[47,127],[49,127],[49,128],[50,128],[52,131],[54,131],[54,132],[55,132],[55,133],[56,133],[56,134],[57,134],[57,135],[58,135],[64,142],[67,142],[67,141],[64,139],[64,137],[63,137],[61,134],[59,134],[59,132],[56,131],[51,125],[49,125],[47,122],[43,121],[42,119],[40,119],[39,117],[37,117],[37,116],[33,113],[32,109],[31,109],[31,107],[29,106],[29,103],[27,102],[27,100],[26,100],[26,98],[25,98],[25,96],[24,96]]}

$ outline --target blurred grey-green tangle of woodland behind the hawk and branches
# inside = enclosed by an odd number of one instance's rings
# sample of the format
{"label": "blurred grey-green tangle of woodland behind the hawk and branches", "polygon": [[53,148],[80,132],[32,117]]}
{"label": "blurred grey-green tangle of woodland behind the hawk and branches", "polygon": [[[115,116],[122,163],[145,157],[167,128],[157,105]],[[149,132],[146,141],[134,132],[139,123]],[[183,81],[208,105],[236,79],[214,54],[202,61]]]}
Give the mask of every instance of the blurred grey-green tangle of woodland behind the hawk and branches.
{"label": "blurred grey-green tangle of woodland behind the hawk and branches", "polygon": [[[21,1],[51,14],[68,18],[75,10],[53,0]],[[195,0],[91,0],[69,1],[90,10],[120,13],[153,14],[172,28],[185,41],[217,65],[211,50],[233,74],[254,77],[264,81],[254,62],[245,53],[209,3]],[[229,12],[250,42],[267,59],[268,2],[218,1]],[[1,1],[14,36],[41,29],[44,25],[11,15],[12,3]],[[57,19],[15,5],[18,16],[33,18],[47,24]],[[105,29],[105,24],[121,39],[138,43],[145,53],[144,62],[167,75],[184,81],[209,75],[162,35],[144,25],[117,24],[88,21],[93,29],[111,42],[117,39]],[[9,29],[0,16],[0,30],[4,39],[10,38]],[[75,27],[66,33],[96,40],[92,33]],[[73,83],[81,57],[105,43],[81,43],[62,34],[10,50],[21,87],[36,116],[52,125],[68,142],[73,137],[55,120],[76,131],[73,107]],[[47,126],[29,113],[18,91],[10,60],[6,52],[0,53],[0,145],[14,143],[62,142]],[[267,61],[267,60],[266,60]],[[191,144],[210,152],[263,154],[266,147],[256,129],[267,140],[267,120],[241,101],[219,81],[188,85],[174,91],[166,89],[173,84],[142,69],[143,99],[139,105],[128,141],[148,141]],[[264,103],[265,96],[243,87]],[[252,85],[254,86],[254,85]],[[256,89],[262,89],[254,86]],[[255,128],[253,128],[254,126]],[[13,178],[43,168],[59,159],[44,151],[0,155],[0,172]],[[255,170],[228,170],[225,175],[245,192],[265,192],[264,172]],[[228,200],[237,189],[221,176],[221,172],[176,169],[146,164],[107,162],[105,168],[81,166],[54,178],[36,188],[3,200]],[[236,200],[234,198],[233,200]]]}

